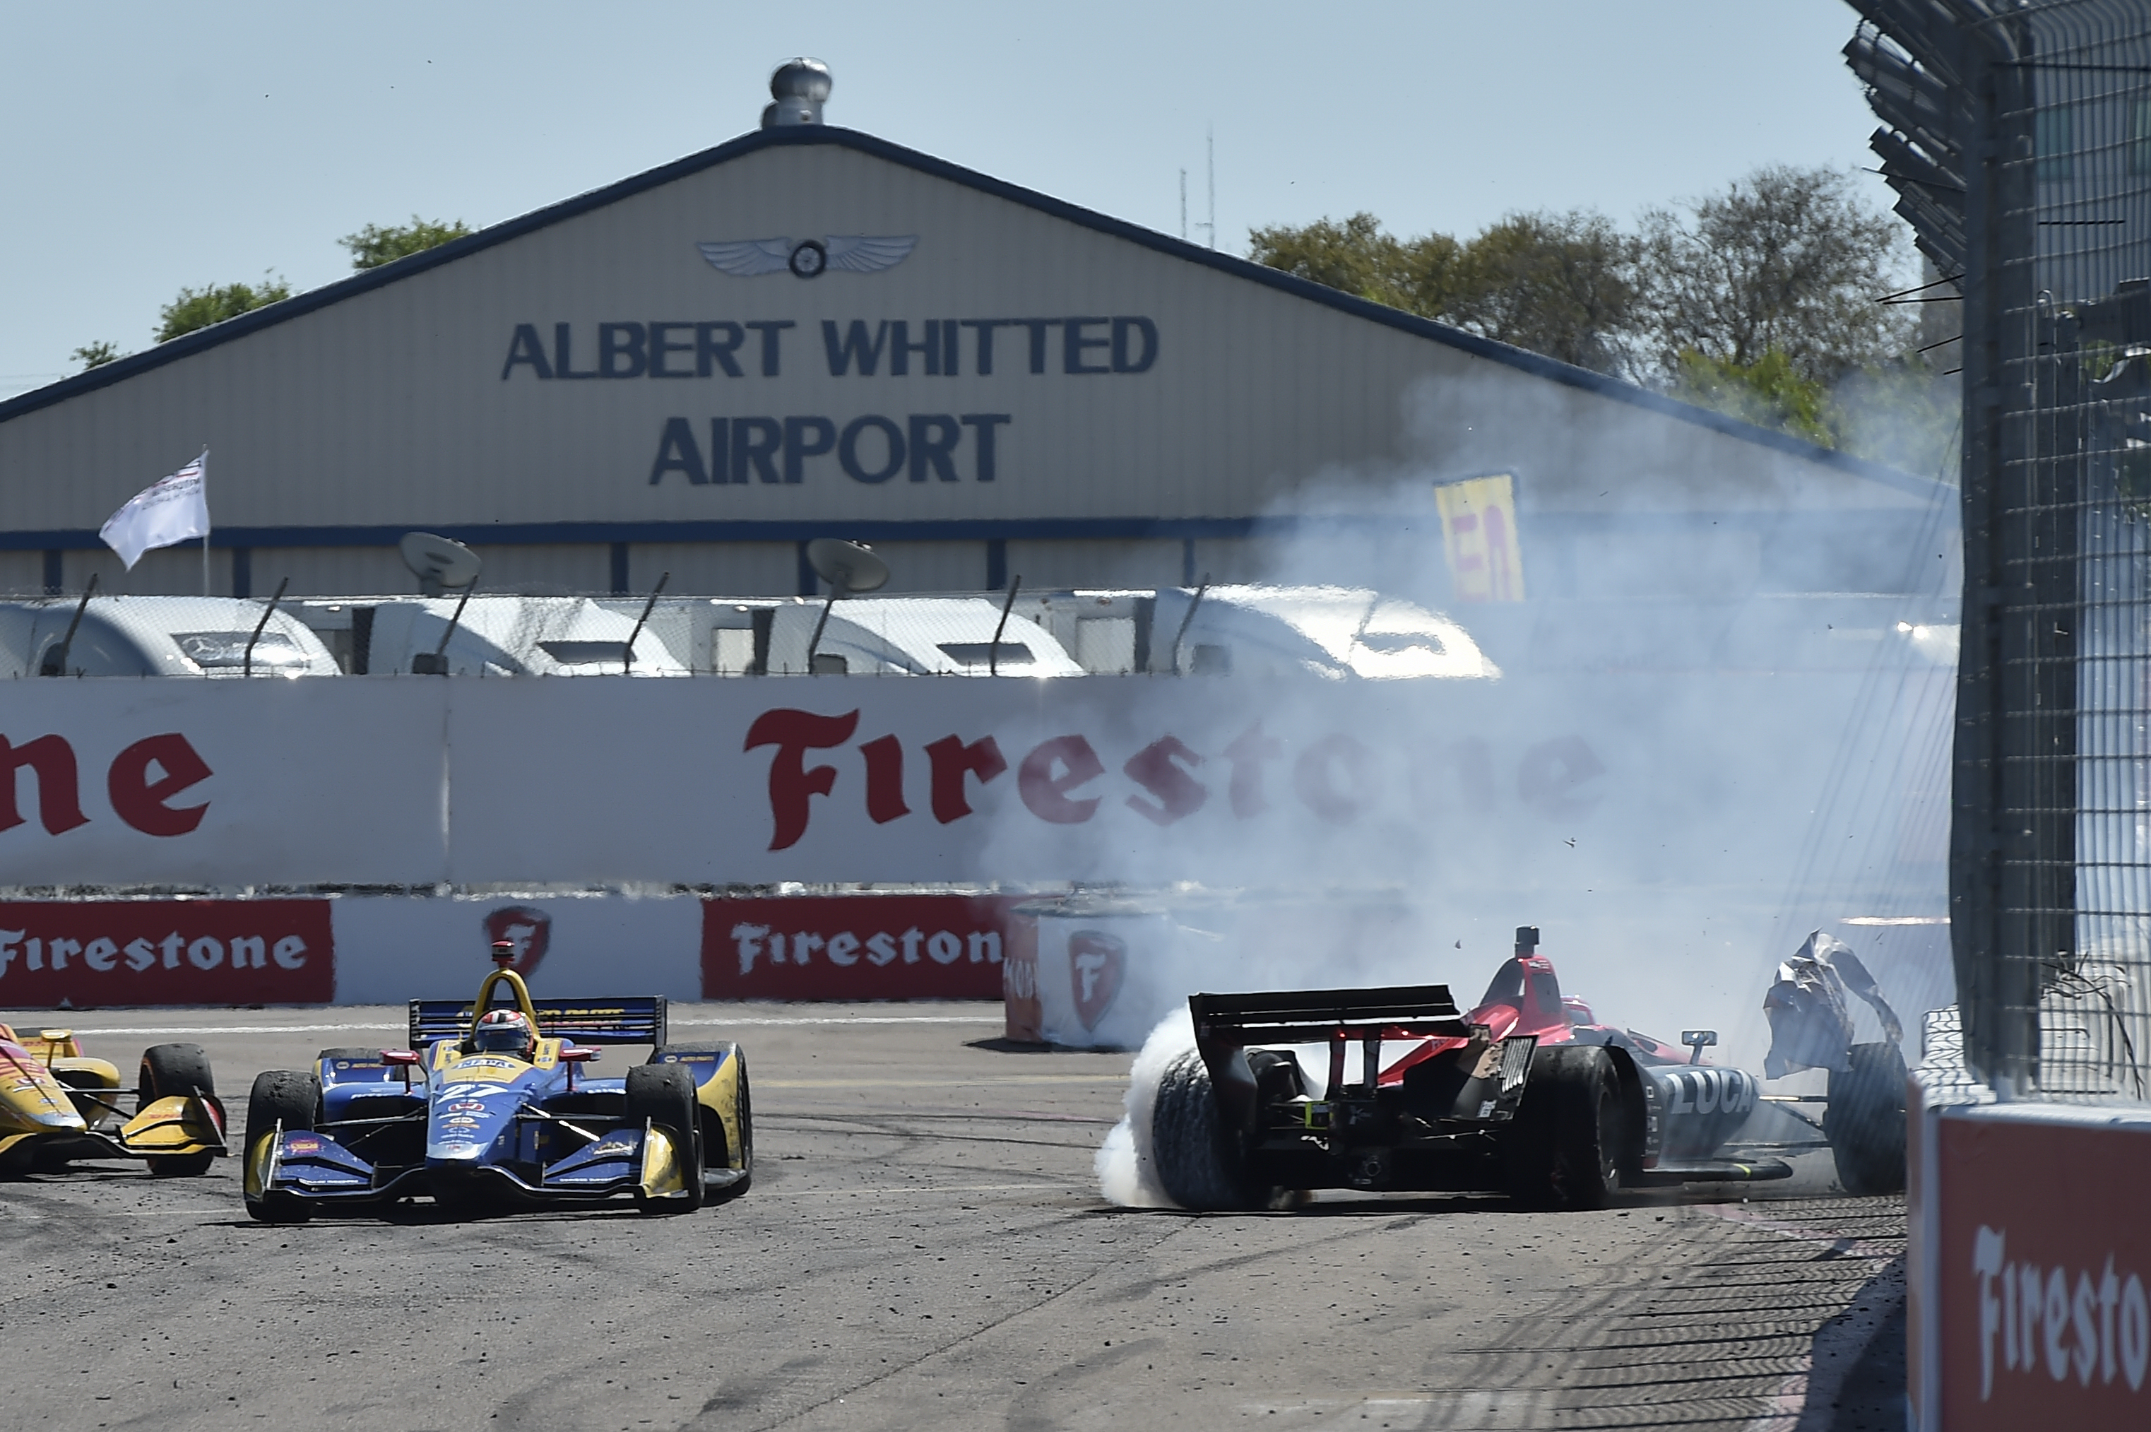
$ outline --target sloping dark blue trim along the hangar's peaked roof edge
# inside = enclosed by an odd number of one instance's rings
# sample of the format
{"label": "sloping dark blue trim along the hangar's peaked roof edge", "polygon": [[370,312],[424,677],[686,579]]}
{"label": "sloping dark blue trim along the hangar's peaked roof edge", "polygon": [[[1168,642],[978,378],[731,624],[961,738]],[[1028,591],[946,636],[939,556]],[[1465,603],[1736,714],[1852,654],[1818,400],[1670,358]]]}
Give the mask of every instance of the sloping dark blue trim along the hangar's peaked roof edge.
{"label": "sloping dark blue trim along the hangar's peaked roof edge", "polygon": [[1037,209],[1056,219],[1067,219],[1069,224],[1080,224],[1084,228],[1110,234],[1114,239],[1140,243],[1142,247],[1155,249],[1170,258],[1205,264],[1222,273],[1230,273],[1233,277],[1239,280],[1267,284],[1269,288],[1278,288],[1299,299],[1308,299],[1310,303],[1323,303],[1327,307],[1342,310],[1357,318],[1381,323],[1392,329],[1411,333],[1415,338],[1426,338],[1437,344],[1445,344],[1450,348],[1469,353],[1473,357],[1482,357],[1495,363],[1504,363],[1508,368],[1529,372],[1551,383],[1579,387],[1583,391],[1598,393],[1600,398],[1611,398],[1615,402],[1626,402],[1639,409],[1648,409],[1652,413],[1671,417],[1676,421],[1693,424],[1697,428],[1710,428],[1714,432],[1723,432],[1727,436],[1736,436],[1747,443],[1757,443],[1762,447],[1775,447],[1796,458],[1807,458],[1809,462],[1835,467],[1846,473],[1867,477],[1869,482],[1880,482],[1901,492],[1910,492],[1914,497],[1932,499],[1938,495],[1940,488],[1949,486],[1932,477],[1917,477],[1912,473],[1901,473],[1893,467],[1882,467],[1880,462],[1867,462],[1865,458],[1854,458],[1833,447],[1818,447],[1787,432],[1757,428],[1755,424],[1744,424],[1738,417],[1727,417],[1723,413],[1712,413],[1710,409],[1699,409],[1695,404],[1680,402],[1676,398],[1665,398],[1663,393],[1652,393],[1650,389],[1637,387],[1633,383],[1622,383],[1620,378],[1609,378],[1587,368],[1575,368],[1572,363],[1562,363],[1559,359],[1549,359],[1540,353],[1527,353],[1523,348],[1499,344],[1491,338],[1480,338],[1478,333],[1465,333],[1463,329],[1452,329],[1448,325],[1433,323],[1430,318],[1407,314],[1398,307],[1370,303],[1349,292],[1340,292],[1336,288],[1325,288],[1323,284],[1295,277],[1280,269],[1269,269],[1265,264],[1256,264],[1245,258],[1235,258],[1233,254],[1205,249],[1194,243],[1172,239],[1170,234],[1159,234],[1155,230],[1140,228],[1125,219],[1114,219],[1093,209],[1069,204],[1067,200],[1052,198],[1050,194],[1039,194],[1037,189],[1024,189],[1022,185],[1011,185],[1002,178],[992,178],[989,174],[966,170],[964,166],[949,163],[946,159],[936,159],[934,155],[923,155],[914,148],[891,144],[888,140],[875,138],[871,133],[863,133],[856,129],[839,129],[835,125],[792,125],[783,129],[757,129],[753,133],[740,135],[738,140],[718,144],[716,148],[706,148],[699,155],[673,159],[671,163],[663,163],[654,170],[645,170],[630,178],[622,178],[617,183],[604,185],[602,189],[592,189],[587,194],[579,194],[557,204],[533,209],[531,213],[505,219],[490,228],[482,228],[475,234],[456,239],[452,243],[443,243],[437,249],[426,249],[424,254],[398,258],[391,264],[368,269],[366,273],[355,273],[346,280],[338,280],[333,284],[325,284],[320,288],[293,295],[282,303],[271,303],[250,314],[226,318],[224,323],[211,325],[206,329],[196,329],[194,333],[174,338],[172,342],[163,342],[157,344],[155,348],[146,348],[142,353],[133,353],[101,368],[75,374],[73,378],[60,378],[58,383],[49,383],[45,387],[30,389],[28,393],[9,398],[6,402],[0,402],[0,424],[13,417],[22,417],[24,413],[34,413],[39,409],[67,402],[69,398],[80,398],[82,393],[92,393],[101,387],[110,387],[112,383],[123,383],[140,372],[161,368],[163,363],[183,359],[194,353],[202,353],[204,348],[215,348],[217,344],[226,344],[234,338],[245,338],[247,333],[271,327],[275,323],[284,323],[301,314],[312,314],[314,310],[329,307],[331,303],[342,303],[344,299],[353,299],[361,292],[372,292],[383,284],[394,284],[398,280],[411,277],[413,273],[424,273],[441,264],[452,264],[469,254],[478,254],[497,243],[508,243],[510,239],[521,239],[523,234],[589,213],[592,209],[615,204],[645,189],[656,189],[660,185],[673,183],[675,178],[686,178],[688,174],[699,174],[701,170],[714,168],[718,163],[727,163],[742,155],[751,155],[755,151],[781,144],[839,144],[843,148],[854,148],[865,155],[873,155],[875,159],[899,163],[903,168],[918,170],[921,174],[931,174],[934,178],[946,178],[949,183],[979,189],[981,194],[992,194],[1013,204]]}

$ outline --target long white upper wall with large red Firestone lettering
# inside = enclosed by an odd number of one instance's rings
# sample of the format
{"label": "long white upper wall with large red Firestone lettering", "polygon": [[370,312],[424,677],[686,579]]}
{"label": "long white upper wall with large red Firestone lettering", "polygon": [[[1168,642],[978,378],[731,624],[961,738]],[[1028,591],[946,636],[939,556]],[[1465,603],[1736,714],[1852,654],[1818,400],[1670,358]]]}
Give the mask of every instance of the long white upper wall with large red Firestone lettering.
{"label": "long white upper wall with large red Firestone lettering", "polygon": [[11,682],[0,890],[1471,890],[1555,843],[1577,886],[1751,884],[1835,755],[1803,740],[1794,690],[1729,673],[1673,701],[1654,671]]}

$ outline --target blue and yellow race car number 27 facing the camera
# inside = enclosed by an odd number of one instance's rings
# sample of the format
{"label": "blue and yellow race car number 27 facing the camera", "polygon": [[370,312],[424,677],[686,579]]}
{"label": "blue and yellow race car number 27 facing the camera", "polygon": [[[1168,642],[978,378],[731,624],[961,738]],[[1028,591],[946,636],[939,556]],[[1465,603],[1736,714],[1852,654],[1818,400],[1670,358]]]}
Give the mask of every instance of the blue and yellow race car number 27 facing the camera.
{"label": "blue and yellow race car number 27 facing the camera", "polygon": [[[613,1198],[688,1213],[746,1191],[755,1133],[736,1043],[667,1043],[663,996],[533,1000],[508,942],[495,961],[471,1004],[411,1002],[409,1049],[323,1049],[314,1069],[254,1079],[254,1219],[419,1195],[458,1215]],[[641,1043],[652,1056],[626,1077],[579,1075],[596,1045]]]}

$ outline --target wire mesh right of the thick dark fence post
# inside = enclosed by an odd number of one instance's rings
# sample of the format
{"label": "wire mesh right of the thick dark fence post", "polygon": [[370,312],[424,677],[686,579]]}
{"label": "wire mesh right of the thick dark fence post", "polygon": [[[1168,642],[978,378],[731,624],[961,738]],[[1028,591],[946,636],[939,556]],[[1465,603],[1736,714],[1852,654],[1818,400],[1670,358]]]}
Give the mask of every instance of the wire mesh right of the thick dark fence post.
{"label": "wire mesh right of the thick dark fence post", "polygon": [[[1996,376],[2003,989],[2035,1008],[2031,1090],[2145,1099],[2151,1075],[2151,6],[2035,6],[2005,86],[1998,252],[2022,331]],[[2013,937],[2011,937],[2013,935]],[[2028,1000],[2026,1000],[2028,1004]]]}

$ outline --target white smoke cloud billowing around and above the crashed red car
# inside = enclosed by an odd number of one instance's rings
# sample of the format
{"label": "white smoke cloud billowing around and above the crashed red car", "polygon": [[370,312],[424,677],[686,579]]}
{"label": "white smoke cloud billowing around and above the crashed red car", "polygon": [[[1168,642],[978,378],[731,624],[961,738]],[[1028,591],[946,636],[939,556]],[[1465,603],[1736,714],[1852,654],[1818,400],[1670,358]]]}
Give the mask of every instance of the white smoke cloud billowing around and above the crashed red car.
{"label": "white smoke cloud billowing around and above the crashed red car", "polygon": [[[1947,492],[1923,503],[1917,482],[1897,484],[1899,499],[1740,439],[1669,443],[1671,419],[1622,404],[1579,400],[1559,424],[1540,409],[1499,383],[1418,393],[1405,413],[1418,460],[1325,473],[1273,510],[1379,522],[1284,525],[1293,535],[1254,568],[1215,574],[1415,600],[1461,621],[1504,675],[1441,692],[1435,720],[1381,684],[1353,688],[1370,744],[1439,757],[1396,789],[1437,768],[1439,781],[1411,819],[1284,841],[1250,828],[1205,847],[1209,869],[1243,875],[1159,897],[1174,920],[1224,935],[1215,957],[1187,961],[1198,983],[1166,993],[1448,983],[1469,1006],[1512,929],[1538,925],[1564,991],[1600,1021],[1663,1039],[1716,1028],[1719,1062],[1760,1069],[1770,972],[1820,927],[1854,944],[1917,1026],[1953,1000],[1940,925],[1953,688],[1919,643],[1955,619]],[[1519,436],[1534,428],[1544,436]],[[1536,445],[1536,467],[1516,443]],[[1532,602],[1458,606],[1433,488],[1499,471],[1516,473]],[[1291,699],[1273,710],[1282,731]],[[1570,733],[1605,770],[1575,800],[1519,802],[1504,735]],[[1450,742],[1508,763],[1465,772]],[[1400,884],[1398,862],[1411,867]],[[1362,877],[1314,873],[1340,864]],[[1103,845],[1084,877],[1159,888],[1155,860]],[[1314,925],[1329,933],[1299,933]],[[1097,1155],[1116,1204],[1168,1204],[1151,1103],[1190,1041],[1174,1013],[1134,1062],[1127,1114]]]}

